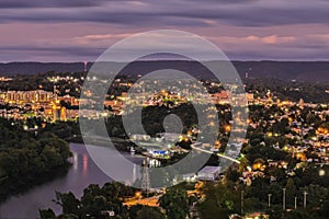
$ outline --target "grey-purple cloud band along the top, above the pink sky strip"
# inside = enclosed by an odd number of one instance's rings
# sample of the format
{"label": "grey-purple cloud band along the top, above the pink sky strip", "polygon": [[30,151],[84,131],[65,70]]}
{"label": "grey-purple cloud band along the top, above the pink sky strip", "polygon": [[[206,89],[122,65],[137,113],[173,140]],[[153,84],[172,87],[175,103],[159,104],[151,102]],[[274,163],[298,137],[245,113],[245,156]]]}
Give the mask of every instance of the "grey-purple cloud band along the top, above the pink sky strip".
{"label": "grey-purple cloud band along the top, above the pink sky strip", "polygon": [[328,24],[328,14],[329,2],[326,0],[4,0],[0,2],[0,20],[4,23],[19,21],[212,25],[223,22],[241,26],[268,26]]}

